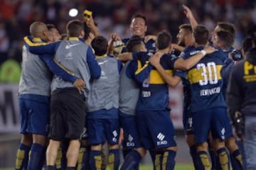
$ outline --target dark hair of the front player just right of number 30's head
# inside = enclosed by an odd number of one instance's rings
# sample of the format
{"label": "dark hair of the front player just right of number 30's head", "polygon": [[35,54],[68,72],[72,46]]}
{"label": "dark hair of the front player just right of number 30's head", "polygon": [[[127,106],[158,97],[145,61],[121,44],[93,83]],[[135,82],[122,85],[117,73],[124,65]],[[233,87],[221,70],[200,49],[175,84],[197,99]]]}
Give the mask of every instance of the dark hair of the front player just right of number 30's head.
{"label": "dark hair of the front player just right of number 30's head", "polygon": [[232,33],[228,32],[227,30],[219,30],[216,35],[218,36],[218,40],[223,42],[225,48],[232,47],[234,43],[234,36]]}

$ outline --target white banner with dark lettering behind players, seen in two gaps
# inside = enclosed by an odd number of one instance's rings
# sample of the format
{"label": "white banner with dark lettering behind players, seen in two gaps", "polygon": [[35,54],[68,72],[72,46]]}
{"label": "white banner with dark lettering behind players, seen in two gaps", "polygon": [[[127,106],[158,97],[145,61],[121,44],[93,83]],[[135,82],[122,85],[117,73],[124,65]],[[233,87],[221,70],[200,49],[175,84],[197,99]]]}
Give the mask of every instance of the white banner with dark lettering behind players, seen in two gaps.
{"label": "white banner with dark lettering behind players, seen in two gaps", "polygon": [[[169,88],[169,103],[171,105],[171,118],[177,129],[182,125],[182,85],[175,89]],[[0,132],[19,132],[20,117],[18,108],[18,85],[0,84]]]}

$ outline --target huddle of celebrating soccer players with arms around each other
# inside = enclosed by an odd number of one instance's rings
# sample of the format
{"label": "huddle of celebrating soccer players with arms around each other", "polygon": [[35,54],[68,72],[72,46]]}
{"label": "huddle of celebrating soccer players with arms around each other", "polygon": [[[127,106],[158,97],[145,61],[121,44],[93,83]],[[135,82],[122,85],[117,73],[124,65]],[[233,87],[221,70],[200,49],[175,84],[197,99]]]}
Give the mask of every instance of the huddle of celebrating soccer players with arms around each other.
{"label": "huddle of celebrating soccer players with arms around each other", "polygon": [[23,137],[16,169],[42,169],[45,159],[49,170],[102,169],[107,142],[110,169],[117,170],[120,128],[120,169],[139,169],[146,150],[154,169],[174,169],[168,86],[181,81],[183,124],[195,169],[230,169],[230,158],[233,169],[243,169],[226,111],[223,84],[228,81],[222,78],[235,28],[218,23],[209,42],[208,29],[187,6],[183,11],[191,24],[179,27],[177,44],[167,30],[146,36],[140,14],[132,17],[131,38],[112,34],[110,42],[92,17],[70,21],[64,40],[53,26],[32,23],[31,35],[24,38],[18,91]]}

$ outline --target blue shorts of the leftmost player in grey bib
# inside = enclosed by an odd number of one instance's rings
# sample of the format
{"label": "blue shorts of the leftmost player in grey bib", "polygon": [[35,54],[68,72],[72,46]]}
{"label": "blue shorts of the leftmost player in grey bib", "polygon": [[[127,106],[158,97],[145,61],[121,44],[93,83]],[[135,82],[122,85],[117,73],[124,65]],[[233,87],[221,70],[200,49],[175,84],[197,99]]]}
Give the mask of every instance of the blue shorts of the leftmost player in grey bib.
{"label": "blue shorts of the leftmost player in grey bib", "polygon": [[21,114],[21,133],[48,135],[50,97],[21,94],[18,100]]}

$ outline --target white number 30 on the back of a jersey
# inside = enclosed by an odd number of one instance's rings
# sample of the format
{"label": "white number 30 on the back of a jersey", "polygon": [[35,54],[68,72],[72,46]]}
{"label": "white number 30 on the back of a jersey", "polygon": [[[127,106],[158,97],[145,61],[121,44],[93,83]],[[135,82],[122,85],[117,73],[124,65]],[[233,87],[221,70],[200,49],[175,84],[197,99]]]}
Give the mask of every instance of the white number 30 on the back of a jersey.
{"label": "white number 30 on the back of a jersey", "polygon": [[201,69],[201,76],[203,79],[199,80],[201,86],[218,83],[218,74],[215,62],[208,62],[207,64],[199,63],[196,65],[197,69]]}

